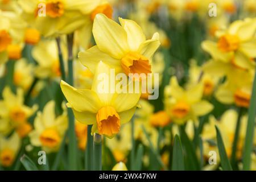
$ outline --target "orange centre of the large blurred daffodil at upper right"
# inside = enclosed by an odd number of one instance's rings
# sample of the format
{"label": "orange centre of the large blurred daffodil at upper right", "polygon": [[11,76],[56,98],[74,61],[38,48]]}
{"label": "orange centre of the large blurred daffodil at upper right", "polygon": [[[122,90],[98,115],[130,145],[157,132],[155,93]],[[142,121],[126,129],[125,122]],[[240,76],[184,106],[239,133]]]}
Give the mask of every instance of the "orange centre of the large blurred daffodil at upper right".
{"label": "orange centre of the large blurred daffodil at upper right", "polygon": [[226,34],[218,40],[218,49],[223,52],[236,51],[239,47],[240,40],[237,35]]}

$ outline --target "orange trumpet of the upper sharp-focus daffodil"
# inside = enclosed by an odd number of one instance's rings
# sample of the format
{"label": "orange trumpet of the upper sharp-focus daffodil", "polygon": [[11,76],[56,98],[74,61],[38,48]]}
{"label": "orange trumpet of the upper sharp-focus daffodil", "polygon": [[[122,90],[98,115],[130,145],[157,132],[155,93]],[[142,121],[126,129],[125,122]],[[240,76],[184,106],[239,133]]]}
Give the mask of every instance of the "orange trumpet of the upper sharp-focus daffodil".
{"label": "orange trumpet of the upper sharp-focus daffodil", "polygon": [[129,73],[151,73],[151,65],[147,57],[136,52],[127,53],[121,60],[121,66],[126,75],[129,75]]}

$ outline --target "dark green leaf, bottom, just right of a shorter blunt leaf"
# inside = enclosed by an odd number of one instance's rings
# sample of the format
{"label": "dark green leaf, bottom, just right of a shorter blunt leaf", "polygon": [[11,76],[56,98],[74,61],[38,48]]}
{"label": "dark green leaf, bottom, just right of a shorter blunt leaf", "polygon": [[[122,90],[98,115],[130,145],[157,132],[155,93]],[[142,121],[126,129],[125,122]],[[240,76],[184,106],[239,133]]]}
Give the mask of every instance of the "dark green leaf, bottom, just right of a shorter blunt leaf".
{"label": "dark green leaf, bottom, just right of a shorter blunt leaf", "polygon": [[181,143],[184,145],[185,149],[185,167],[187,170],[200,170],[199,160],[196,156],[196,147],[193,145],[193,142],[188,138],[187,133],[185,132],[184,126],[180,127],[180,138]]}

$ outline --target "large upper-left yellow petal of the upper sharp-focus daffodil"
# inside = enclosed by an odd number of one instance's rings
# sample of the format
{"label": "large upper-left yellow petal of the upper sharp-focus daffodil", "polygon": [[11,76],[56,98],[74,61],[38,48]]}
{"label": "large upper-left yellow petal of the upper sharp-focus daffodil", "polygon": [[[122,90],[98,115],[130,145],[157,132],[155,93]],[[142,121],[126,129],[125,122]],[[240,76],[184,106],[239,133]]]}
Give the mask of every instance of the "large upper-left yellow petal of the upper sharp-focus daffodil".
{"label": "large upper-left yellow petal of the upper sharp-focus daffodil", "polygon": [[121,59],[129,51],[126,31],[104,14],[96,15],[93,36],[98,48],[115,59]]}

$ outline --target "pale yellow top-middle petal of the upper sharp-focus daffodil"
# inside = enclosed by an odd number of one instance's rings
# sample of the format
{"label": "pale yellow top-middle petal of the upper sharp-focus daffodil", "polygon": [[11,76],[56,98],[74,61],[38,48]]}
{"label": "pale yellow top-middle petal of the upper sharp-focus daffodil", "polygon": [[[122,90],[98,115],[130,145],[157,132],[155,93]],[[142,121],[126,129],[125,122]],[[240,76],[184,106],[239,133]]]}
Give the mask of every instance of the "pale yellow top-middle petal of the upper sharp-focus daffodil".
{"label": "pale yellow top-middle petal of the upper sharp-focus daffodil", "polygon": [[139,46],[146,41],[142,28],[133,20],[119,18],[119,22],[127,33],[127,41],[132,51],[137,51]]}

